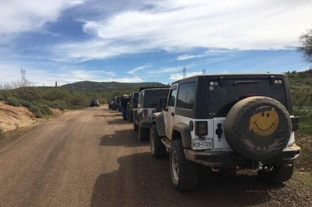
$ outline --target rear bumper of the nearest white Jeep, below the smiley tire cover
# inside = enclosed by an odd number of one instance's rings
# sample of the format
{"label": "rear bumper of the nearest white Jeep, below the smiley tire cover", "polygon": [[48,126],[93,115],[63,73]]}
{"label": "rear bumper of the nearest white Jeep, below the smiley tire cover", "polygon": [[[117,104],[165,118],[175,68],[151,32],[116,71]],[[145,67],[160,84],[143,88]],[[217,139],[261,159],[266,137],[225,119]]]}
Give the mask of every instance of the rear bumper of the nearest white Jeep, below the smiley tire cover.
{"label": "rear bumper of the nearest white Jeep, below the smiley tire cover", "polygon": [[[270,161],[270,163],[265,164],[292,162],[299,157],[300,152],[301,148],[293,144],[286,147],[274,160]],[[184,155],[187,160],[209,167],[250,166],[255,163],[246,160],[235,152],[203,152],[184,149]]]}

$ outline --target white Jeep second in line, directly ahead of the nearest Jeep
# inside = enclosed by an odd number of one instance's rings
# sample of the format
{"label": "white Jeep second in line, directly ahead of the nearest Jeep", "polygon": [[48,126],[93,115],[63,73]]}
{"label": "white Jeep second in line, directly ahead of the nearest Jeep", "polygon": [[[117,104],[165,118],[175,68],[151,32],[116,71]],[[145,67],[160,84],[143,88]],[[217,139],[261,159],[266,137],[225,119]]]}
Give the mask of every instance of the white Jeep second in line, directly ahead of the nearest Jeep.
{"label": "white Jeep second in line, directly ahead of the nearest Jeep", "polygon": [[137,108],[133,109],[133,129],[138,130],[139,140],[149,138],[152,113],[159,110],[160,99],[167,98],[169,88],[151,88],[139,92]]}

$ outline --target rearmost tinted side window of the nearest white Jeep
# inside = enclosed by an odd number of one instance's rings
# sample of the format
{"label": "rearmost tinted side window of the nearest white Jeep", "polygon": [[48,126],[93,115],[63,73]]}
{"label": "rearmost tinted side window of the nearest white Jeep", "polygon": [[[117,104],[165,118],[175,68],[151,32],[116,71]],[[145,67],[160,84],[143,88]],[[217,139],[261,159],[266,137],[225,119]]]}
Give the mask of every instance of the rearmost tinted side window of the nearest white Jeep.
{"label": "rearmost tinted side window of the nearest white Jeep", "polygon": [[195,82],[183,83],[179,86],[178,108],[193,109],[195,98]]}

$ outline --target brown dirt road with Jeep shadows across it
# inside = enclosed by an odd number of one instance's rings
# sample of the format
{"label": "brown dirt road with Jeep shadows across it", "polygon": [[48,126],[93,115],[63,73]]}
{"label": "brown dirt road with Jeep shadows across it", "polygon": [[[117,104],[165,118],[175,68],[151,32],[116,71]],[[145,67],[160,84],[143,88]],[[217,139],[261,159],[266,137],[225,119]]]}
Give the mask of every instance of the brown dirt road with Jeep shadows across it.
{"label": "brown dirt road with Jeep shadows across it", "polygon": [[[300,185],[299,185],[300,186]],[[0,206],[311,206],[305,188],[256,176],[202,175],[196,192],[171,185],[132,123],[103,107],[70,111],[0,149]]]}

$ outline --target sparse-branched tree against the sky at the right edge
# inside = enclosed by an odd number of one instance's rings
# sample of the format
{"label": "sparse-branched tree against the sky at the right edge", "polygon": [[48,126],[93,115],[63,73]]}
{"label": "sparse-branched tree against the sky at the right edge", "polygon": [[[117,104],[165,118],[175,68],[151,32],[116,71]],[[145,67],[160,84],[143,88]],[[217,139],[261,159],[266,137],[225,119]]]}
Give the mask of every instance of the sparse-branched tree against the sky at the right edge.
{"label": "sparse-branched tree against the sky at the right edge", "polygon": [[312,63],[312,29],[308,29],[306,33],[302,33],[299,37],[298,51],[303,53],[303,57],[307,62]]}

